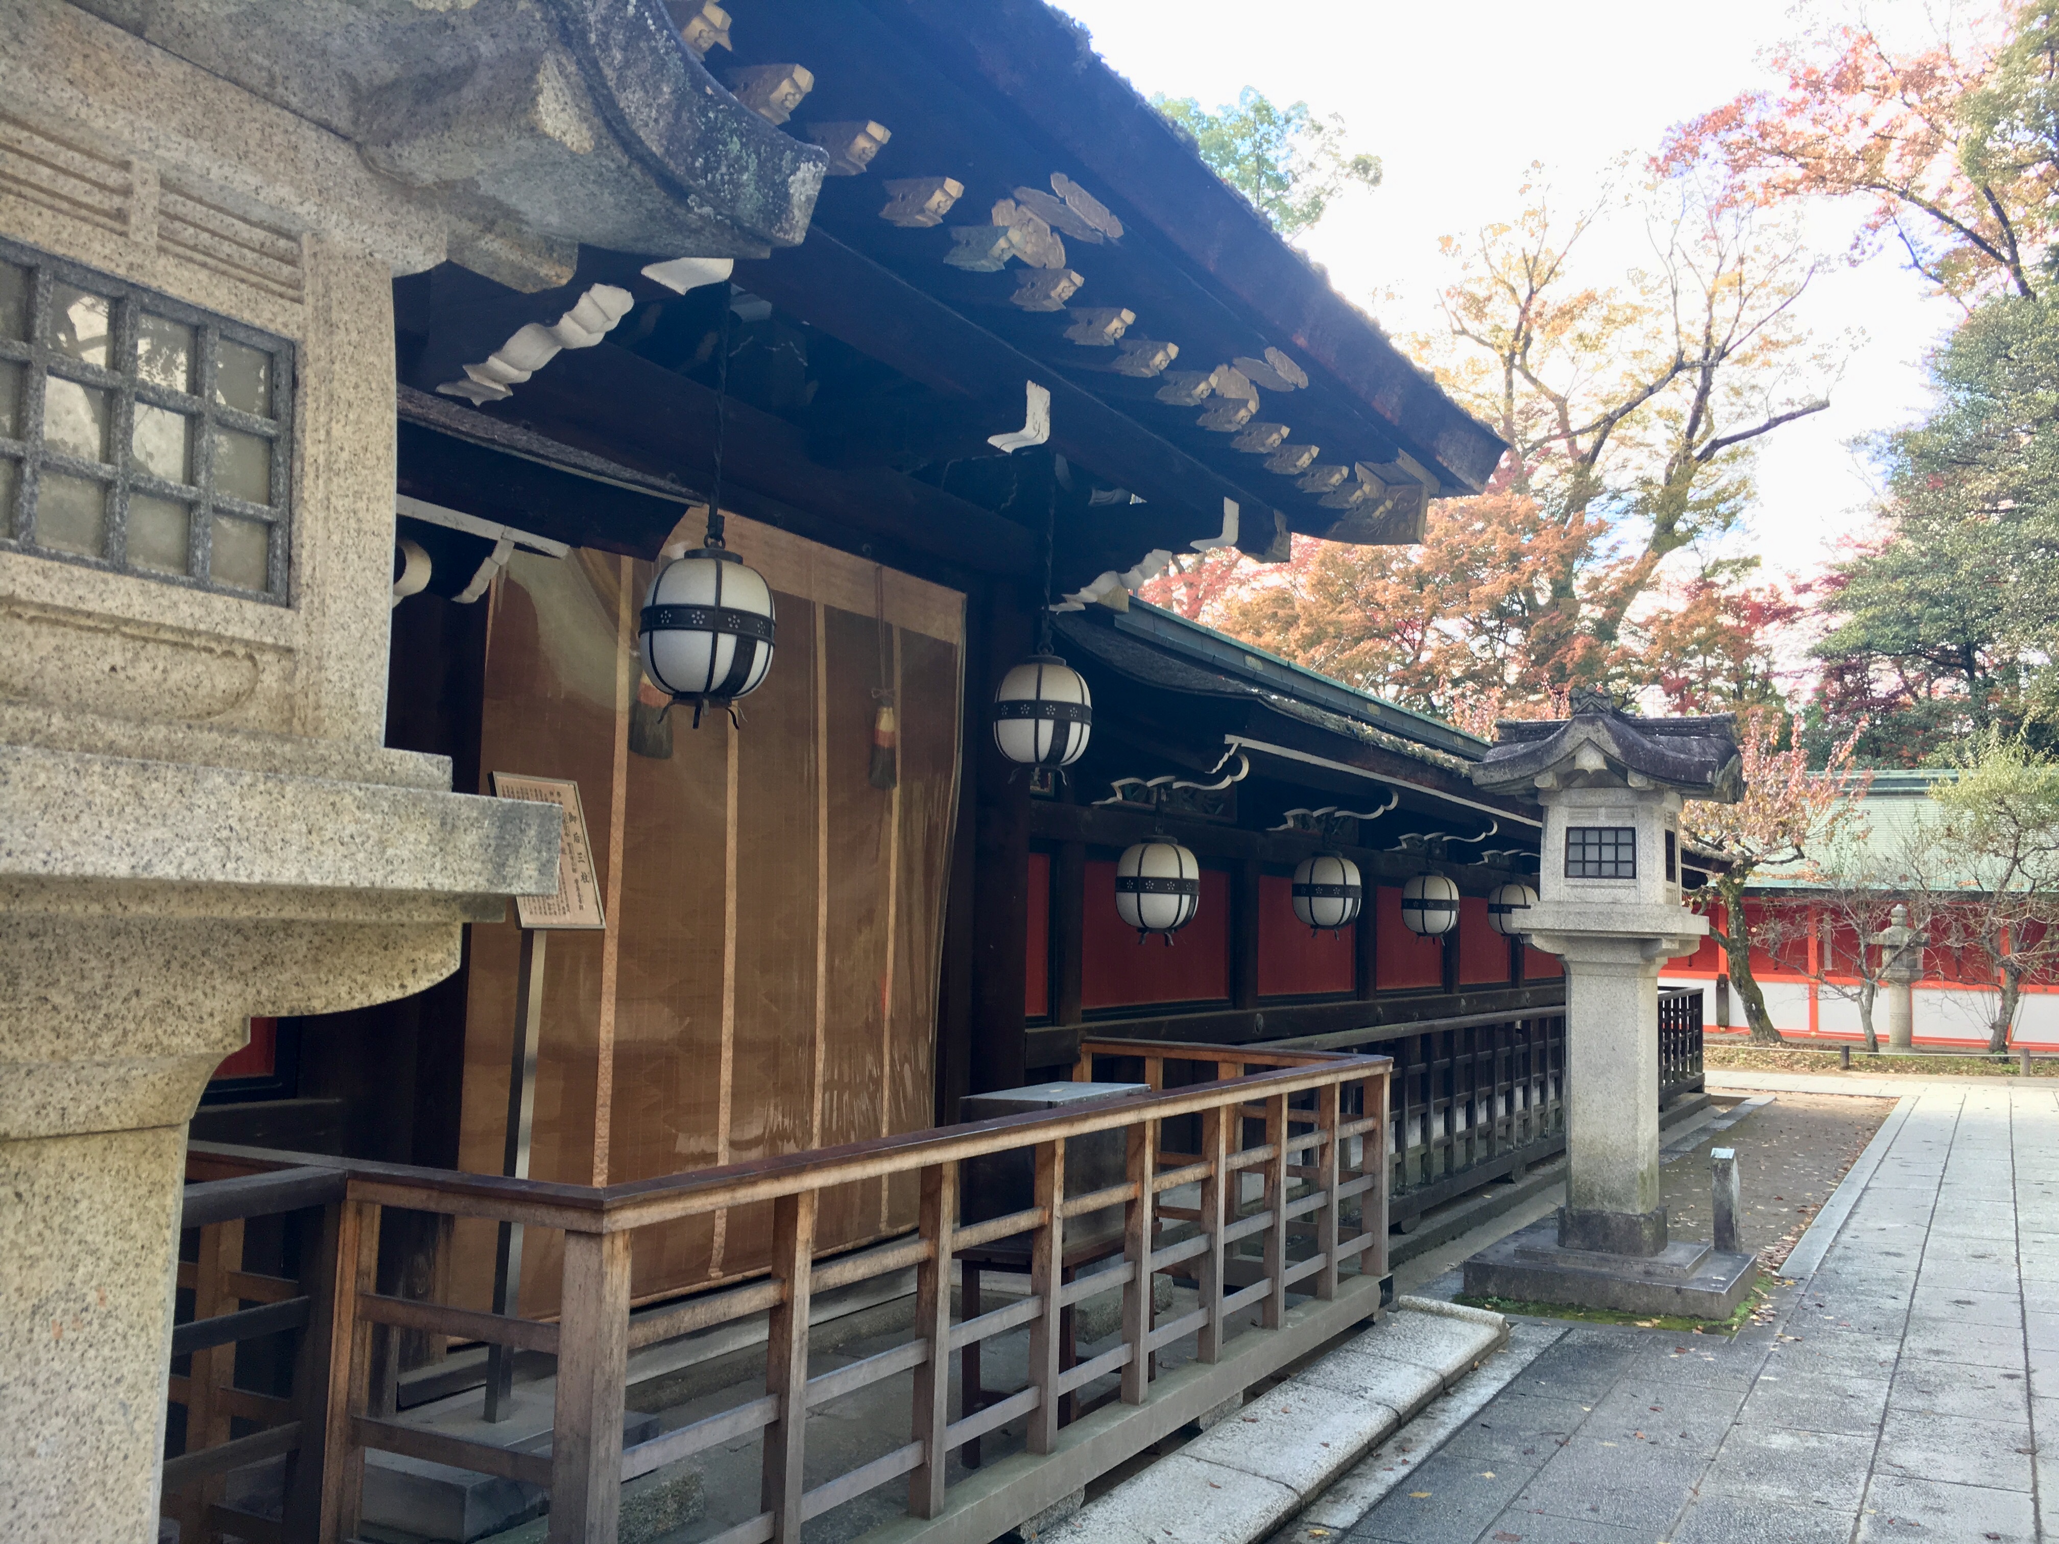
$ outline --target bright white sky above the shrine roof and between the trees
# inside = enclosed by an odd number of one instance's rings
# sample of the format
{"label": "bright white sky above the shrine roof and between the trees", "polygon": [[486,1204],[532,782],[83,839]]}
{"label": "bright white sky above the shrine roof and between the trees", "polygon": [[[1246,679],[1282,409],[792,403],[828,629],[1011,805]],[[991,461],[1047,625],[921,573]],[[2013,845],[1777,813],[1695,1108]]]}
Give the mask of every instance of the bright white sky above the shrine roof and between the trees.
{"label": "bright white sky above the shrine roof and between the trees", "polygon": [[[1215,107],[1250,84],[1281,105],[1340,113],[1351,150],[1382,156],[1386,181],[1338,202],[1303,245],[1390,331],[1435,323],[1447,274],[1437,239],[1513,214],[1532,161],[1546,165],[1571,208],[1614,156],[1641,159],[1668,126],[1779,84],[1760,54],[1800,31],[1787,0],[1728,0],[1717,10],[1651,0],[1561,0],[1542,10],[1534,0],[1058,4],[1147,95]],[[1880,0],[1872,16],[1923,25],[1919,0]],[[1810,218],[1810,235],[1833,257],[1849,233],[1839,210]],[[1641,226],[1622,231],[1596,245],[1596,259],[1631,261],[1641,241]],[[1612,282],[1620,270],[1590,278]],[[1375,303],[1382,290],[1390,303]],[[1806,576],[1868,521],[1870,476],[1847,443],[1923,408],[1919,362],[1958,309],[1927,299],[1923,282],[1884,253],[1818,278],[1800,315],[1824,338],[1861,331],[1863,340],[1830,410],[1763,443],[1760,500],[1740,548],[1758,552],[1771,576]]]}

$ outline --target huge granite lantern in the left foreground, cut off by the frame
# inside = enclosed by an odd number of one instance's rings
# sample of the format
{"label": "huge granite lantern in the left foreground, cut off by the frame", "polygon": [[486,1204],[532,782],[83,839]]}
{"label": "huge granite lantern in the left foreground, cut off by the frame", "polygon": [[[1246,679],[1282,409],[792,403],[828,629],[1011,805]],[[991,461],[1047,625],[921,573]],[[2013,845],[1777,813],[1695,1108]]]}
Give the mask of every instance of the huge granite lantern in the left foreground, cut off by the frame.
{"label": "huge granite lantern in the left foreground, cut off by the frame", "polygon": [[449,340],[486,401],[620,319],[583,243],[671,290],[797,243],[824,150],[667,33],[0,0],[6,1544],[156,1538],[185,1126],[249,1019],[416,992],[556,889],[554,807],[385,749],[393,280],[507,286]]}

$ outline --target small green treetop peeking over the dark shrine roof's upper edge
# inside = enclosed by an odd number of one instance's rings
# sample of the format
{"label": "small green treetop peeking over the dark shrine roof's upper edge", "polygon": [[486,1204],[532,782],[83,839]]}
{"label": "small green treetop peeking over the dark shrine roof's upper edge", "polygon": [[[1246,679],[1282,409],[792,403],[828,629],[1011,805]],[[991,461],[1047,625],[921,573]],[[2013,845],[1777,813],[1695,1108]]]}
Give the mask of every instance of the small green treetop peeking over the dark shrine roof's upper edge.
{"label": "small green treetop peeking over the dark shrine roof's upper edge", "polygon": [[1256,86],[1213,113],[1192,97],[1151,99],[1186,130],[1217,177],[1244,194],[1283,237],[1307,231],[1347,187],[1380,187],[1380,156],[1345,154],[1345,119],[1305,101],[1275,107]]}

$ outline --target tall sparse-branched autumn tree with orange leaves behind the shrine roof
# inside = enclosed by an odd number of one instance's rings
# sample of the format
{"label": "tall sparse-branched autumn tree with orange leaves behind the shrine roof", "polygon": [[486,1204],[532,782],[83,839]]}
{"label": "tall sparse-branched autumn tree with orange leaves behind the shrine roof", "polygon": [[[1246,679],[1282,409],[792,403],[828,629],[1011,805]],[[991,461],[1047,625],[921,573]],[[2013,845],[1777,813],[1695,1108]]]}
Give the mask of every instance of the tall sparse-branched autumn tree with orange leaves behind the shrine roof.
{"label": "tall sparse-branched autumn tree with orange leaves behind the shrine roof", "polygon": [[1421,340],[1509,441],[1487,492],[1437,500],[1412,548],[1297,541],[1272,572],[1186,560],[1145,595],[1447,716],[1482,698],[1550,712],[1581,686],[1763,700],[1779,601],[1701,548],[1742,517],[1752,445],[1824,406],[1791,319],[1812,266],[1697,173],[1643,198],[1651,268],[1594,286],[1573,255],[1598,210],[1561,218],[1536,179],[1524,196],[1515,220],[1445,243],[1447,325]]}

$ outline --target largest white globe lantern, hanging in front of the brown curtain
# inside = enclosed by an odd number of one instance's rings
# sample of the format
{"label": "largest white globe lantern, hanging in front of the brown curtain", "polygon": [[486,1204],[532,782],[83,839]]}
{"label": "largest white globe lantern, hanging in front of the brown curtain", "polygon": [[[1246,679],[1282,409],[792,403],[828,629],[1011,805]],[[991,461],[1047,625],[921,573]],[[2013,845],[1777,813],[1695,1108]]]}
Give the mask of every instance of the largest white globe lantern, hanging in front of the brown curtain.
{"label": "largest white globe lantern, hanging in front of the brown curtain", "polygon": [[727,708],[772,669],[772,591],[737,554],[706,546],[657,570],[638,648],[651,686],[673,702]]}

